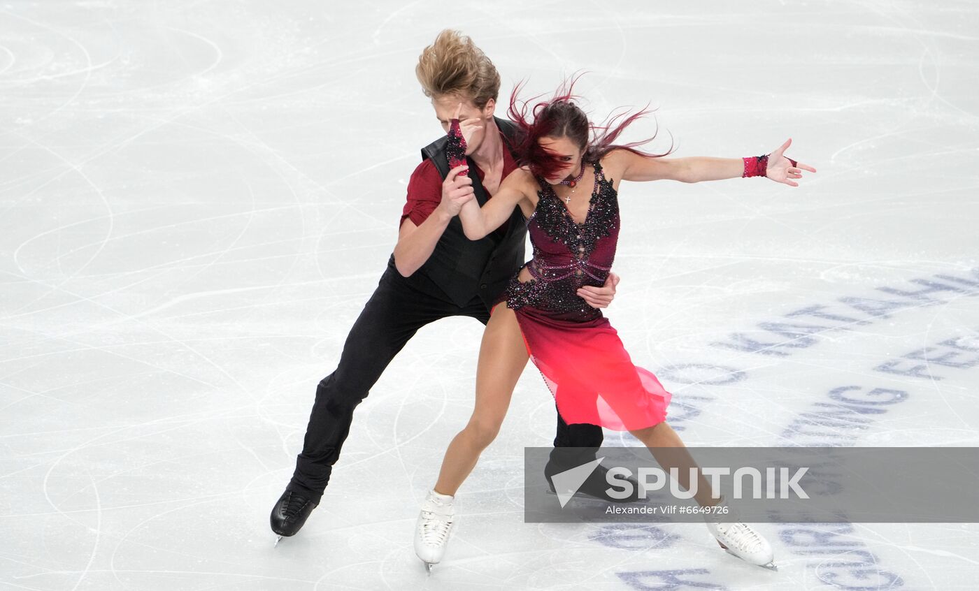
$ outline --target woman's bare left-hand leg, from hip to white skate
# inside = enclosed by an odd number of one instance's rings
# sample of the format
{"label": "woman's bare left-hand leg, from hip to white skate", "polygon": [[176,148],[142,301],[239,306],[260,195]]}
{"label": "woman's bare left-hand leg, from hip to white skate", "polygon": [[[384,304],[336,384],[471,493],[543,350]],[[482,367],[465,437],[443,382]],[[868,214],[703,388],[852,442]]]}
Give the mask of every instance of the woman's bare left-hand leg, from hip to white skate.
{"label": "woman's bare left-hand leg, from hip to white skate", "polygon": [[480,344],[473,415],[445,450],[436,492],[454,495],[476,466],[480,454],[496,437],[527,359],[517,315],[505,305],[497,305]]}

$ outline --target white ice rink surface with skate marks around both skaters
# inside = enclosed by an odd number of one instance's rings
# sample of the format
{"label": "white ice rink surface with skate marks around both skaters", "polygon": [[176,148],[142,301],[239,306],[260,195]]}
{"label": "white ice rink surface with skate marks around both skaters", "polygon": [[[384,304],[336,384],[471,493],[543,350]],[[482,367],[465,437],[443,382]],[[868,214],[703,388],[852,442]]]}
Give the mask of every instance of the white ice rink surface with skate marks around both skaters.
{"label": "white ice rink surface with skate marks around both skaters", "polygon": [[412,530],[471,412],[470,319],[401,352],[273,548],[315,386],[442,133],[414,65],[443,27],[502,95],[588,70],[597,118],[658,109],[632,139],[791,137],[818,169],[621,189],[607,315],[688,445],[979,445],[973,2],[7,2],[0,589],[974,589],[974,523],[759,525],[777,573],[695,523],[524,523],[523,449],[555,423],[533,368],[427,577]]}

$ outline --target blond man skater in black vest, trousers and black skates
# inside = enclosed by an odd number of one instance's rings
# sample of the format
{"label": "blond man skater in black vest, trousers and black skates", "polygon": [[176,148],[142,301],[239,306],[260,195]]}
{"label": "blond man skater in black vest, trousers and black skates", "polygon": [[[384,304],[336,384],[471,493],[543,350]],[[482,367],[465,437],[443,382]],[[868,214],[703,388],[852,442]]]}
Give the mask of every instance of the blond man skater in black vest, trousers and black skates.
{"label": "blond man skater in black vest, trousers and black skates", "polygon": [[[415,72],[443,130],[454,116],[479,127],[466,138],[468,169],[462,165],[449,170],[444,137],[422,150],[423,161],[408,183],[388,268],[350,329],[337,369],[316,387],[303,453],[270,517],[280,539],[299,531],[319,503],[350,432],[353,409],[404,344],[421,327],[447,316],[489,322],[489,307],[525,260],[527,227],[519,208],[496,232],[474,242],[465,237],[456,217],[458,201],[449,199],[475,194],[482,205],[516,168],[510,148],[515,127],[493,116],[499,91],[496,68],[471,39],[444,30],[425,48]],[[618,282],[610,275],[601,288],[583,287],[578,295],[592,307],[607,307]],[[580,454],[571,448],[601,443],[600,427],[569,426],[558,416],[558,449],[545,477],[549,481],[579,463]],[[580,492],[606,498],[604,475],[595,471],[592,476]]]}

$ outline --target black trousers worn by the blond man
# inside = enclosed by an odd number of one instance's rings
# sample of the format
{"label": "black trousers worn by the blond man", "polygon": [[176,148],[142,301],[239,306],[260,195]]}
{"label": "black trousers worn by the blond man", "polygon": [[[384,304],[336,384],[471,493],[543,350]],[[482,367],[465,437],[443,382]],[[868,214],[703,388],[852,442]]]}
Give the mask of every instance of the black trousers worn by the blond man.
{"label": "black trousers worn by the blond man", "polygon": [[[388,266],[350,329],[337,369],[316,386],[316,401],[309,415],[303,453],[296,459],[296,471],[289,483],[291,489],[319,503],[350,432],[353,409],[418,329],[448,316],[489,322],[489,310],[478,296],[460,307],[408,285],[393,265]],[[597,448],[601,443],[600,427],[569,426],[558,415],[556,447]]]}

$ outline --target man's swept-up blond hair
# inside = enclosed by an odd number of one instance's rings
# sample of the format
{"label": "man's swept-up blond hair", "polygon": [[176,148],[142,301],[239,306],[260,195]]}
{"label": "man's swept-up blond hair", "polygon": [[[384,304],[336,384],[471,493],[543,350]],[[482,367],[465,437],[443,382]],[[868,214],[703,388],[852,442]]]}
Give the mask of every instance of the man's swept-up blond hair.
{"label": "man's swept-up blond hair", "polygon": [[473,40],[446,28],[418,57],[415,75],[427,97],[460,94],[486,107],[499,93],[499,73]]}

